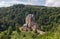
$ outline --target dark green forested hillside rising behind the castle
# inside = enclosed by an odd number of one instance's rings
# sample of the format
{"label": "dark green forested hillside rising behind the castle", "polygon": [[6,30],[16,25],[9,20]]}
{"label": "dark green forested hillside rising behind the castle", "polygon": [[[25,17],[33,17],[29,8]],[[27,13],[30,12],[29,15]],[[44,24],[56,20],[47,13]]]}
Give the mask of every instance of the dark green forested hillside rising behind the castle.
{"label": "dark green forested hillside rising behind the castle", "polygon": [[[0,32],[7,30],[12,26],[22,26],[28,14],[34,14],[36,22],[41,30],[49,30],[54,26],[53,23],[60,24],[60,7],[31,6],[31,5],[13,5],[0,8]],[[53,25],[52,25],[53,24]]]}

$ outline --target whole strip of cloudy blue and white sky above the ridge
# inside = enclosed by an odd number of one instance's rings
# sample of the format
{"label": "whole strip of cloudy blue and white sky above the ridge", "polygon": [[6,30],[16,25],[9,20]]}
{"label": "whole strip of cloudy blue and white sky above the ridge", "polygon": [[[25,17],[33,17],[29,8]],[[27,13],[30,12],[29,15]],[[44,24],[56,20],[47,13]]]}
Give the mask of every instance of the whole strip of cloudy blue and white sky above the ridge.
{"label": "whole strip of cloudy blue and white sky above the ridge", "polygon": [[14,4],[60,7],[60,0],[0,0],[0,7],[8,7]]}

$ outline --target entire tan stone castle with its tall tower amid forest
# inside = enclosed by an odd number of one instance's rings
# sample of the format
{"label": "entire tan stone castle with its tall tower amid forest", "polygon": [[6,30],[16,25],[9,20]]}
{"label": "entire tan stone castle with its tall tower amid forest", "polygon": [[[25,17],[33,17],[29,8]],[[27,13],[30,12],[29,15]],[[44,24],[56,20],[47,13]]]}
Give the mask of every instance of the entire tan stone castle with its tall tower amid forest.
{"label": "entire tan stone castle with its tall tower amid forest", "polygon": [[28,14],[25,18],[25,24],[23,24],[23,26],[21,27],[21,30],[23,31],[37,31],[40,34],[43,34],[45,32],[40,31],[38,29],[38,24],[35,21],[35,16],[34,14]]}

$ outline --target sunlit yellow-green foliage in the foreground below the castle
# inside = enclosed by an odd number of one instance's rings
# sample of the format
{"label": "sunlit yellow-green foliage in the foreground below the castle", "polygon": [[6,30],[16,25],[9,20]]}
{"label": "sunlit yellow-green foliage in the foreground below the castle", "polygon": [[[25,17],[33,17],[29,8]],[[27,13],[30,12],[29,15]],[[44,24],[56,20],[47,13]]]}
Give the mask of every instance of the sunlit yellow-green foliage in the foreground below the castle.
{"label": "sunlit yellow-green foliage in the foreground below the castle", "polygon": [[6,35],[6,31],[0,33],[0,39],[60,39],[60,25],[54,31],[49,31],[45,35],[34,32],[13,31],[11,35]]}

